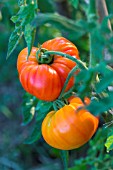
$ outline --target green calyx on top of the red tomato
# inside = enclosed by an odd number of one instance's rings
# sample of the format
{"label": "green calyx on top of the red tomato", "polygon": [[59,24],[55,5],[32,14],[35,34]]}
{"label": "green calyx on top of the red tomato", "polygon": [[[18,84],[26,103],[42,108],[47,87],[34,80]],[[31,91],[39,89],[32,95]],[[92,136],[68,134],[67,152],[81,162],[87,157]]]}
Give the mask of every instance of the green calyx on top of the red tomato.
{"label": "green calyx on top of the red tomato", "polygon": [[45,48],[39,48],[36,52],[36,58],[39,64],[51,64],[53,62],[53,54],[45,54],[48,50]]}

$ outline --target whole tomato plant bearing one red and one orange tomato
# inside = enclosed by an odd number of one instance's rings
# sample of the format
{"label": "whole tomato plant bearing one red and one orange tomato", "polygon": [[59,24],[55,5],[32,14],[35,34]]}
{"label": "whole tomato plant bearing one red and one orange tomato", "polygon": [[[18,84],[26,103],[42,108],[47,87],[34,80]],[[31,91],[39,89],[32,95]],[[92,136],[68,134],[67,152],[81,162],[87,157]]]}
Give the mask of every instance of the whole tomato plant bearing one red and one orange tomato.
{"label": "whole tomato plant bearing one red and one orange tomato", "polygon": [[[90,154],[93,156],[88,159],[92,160],[90,163],[95,160],[93,169],[95,166],[103,169],[100,164],[106,152],[106,139],[107,151],[113,149],[113,10],[109,0],[106,0],[107,5],[105,0],[101,1],[101,5],[99,2],[66,1],[70,14],[67,18],[56,12],[50,13],[53,8],[49,13],[43,12],[44,9],[37,12],[39,7],[35,0],[20,0],[19,12],[12,17],[15,30],[9,39],[8,56],[22,37],[27,44],[17,61],[20,82],[28,92],[24,99],[23,124],[33,121],[33,131],[26,143],[31,144],[40,138],[43,141],[44,138],[50,146],[62,150],[65,170],[68,169],[67,150],[79,148],[91,138]],[[57,4],[49,0],[48,3]],[[46,2],[43,1],[43,4]],[[110,15],[105,10],[108,6]],[[100,7],[104,8],[104,16],[98,12]],[[38,46],[38,43],[42,45]],[[99,131],[95,134],[98,124],[101,129],[105,125],[109,127],[108,138],[102,137]],[[104,128],[100,132],[105,134]],[[100,146],[102,151],[99,152]],[[88,162],[88,159],[85,161]],[[78,167],[88,169],[89,164],[84,166],[83,159]]]}

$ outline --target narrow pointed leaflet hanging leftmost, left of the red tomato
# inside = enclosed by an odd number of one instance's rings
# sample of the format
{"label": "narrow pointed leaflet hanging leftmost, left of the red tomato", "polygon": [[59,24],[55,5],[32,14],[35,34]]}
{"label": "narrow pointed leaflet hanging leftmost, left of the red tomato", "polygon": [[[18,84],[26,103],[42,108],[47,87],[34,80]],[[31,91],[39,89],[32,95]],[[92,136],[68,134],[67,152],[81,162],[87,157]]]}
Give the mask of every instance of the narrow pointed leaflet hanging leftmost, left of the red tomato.
{"label": "narrow pointed leaflet hanging leftmost, left of the red tomato", "polygon": [[16,28],[10,38],[9,38],[9,43],[8,43],[8,52],[7,52],[7,58],[11,55],[11,53],[15,50],[17,47],[18,43],[20,42],[20,39],[22,38],[22,30],[21,27]]}

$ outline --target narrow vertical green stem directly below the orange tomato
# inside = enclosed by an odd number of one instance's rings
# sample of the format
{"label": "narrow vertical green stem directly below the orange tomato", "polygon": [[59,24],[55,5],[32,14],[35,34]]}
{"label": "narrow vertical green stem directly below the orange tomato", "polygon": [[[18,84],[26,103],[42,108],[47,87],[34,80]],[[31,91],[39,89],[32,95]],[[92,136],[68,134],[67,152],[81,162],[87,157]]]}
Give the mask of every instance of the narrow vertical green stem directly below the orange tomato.
{"label": "narrow vertical green stem directly below the orange tomato", "polygon": [[68,170],[68,151],[65,151],[65,150],[60,150],[60,156],[61,156],[61,159],[63,161],[63,166],[64,166],[64,170]]}

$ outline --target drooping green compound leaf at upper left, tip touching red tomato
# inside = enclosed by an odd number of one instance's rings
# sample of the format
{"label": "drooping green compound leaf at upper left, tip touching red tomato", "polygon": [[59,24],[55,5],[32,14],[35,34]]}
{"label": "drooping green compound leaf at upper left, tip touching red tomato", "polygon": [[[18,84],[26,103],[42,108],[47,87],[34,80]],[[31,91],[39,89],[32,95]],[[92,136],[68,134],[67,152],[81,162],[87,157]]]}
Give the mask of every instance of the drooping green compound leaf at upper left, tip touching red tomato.
{"label": "drooping green compound leaf at upper left, tip touching red tomato", "polygon": [[28,45],[28,54],[30,54],[32,45],[34,43],[35,29],[30,26],[30,23],[34,19],[36,14],[37,1],[19,1],[19,6],[19,12],[17,13],[17,15],[11,18],[11,20],[15,23],[15,30],[13,31],[9,39],[7,58],[18,45],[23,32]]}

